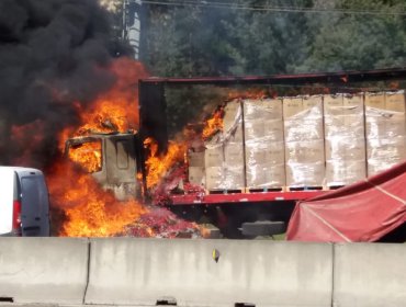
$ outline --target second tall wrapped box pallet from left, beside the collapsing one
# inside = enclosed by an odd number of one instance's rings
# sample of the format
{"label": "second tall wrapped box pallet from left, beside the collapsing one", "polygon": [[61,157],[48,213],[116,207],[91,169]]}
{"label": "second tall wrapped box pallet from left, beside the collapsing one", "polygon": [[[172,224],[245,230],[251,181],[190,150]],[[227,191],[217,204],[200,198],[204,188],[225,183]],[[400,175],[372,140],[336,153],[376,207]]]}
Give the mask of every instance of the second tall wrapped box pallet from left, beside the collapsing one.
{"label": "second tall wrapped box pallet from left, beside the collapsing one", "polygon": [[283,187],[285,170],[282,100],[245,100],[244,127],[247,187]]}

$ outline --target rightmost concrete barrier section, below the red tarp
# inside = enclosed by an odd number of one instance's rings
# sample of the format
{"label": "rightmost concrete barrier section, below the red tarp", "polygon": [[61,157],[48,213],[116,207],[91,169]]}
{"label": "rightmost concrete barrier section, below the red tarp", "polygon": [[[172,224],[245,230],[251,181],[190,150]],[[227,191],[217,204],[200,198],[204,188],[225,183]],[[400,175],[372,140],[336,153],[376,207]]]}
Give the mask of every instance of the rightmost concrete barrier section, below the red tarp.
{"label": "rightmost concrete barrier section, below the red tarp", "polygon": [[336,245],[334,306],[406,306],[406,245]]}

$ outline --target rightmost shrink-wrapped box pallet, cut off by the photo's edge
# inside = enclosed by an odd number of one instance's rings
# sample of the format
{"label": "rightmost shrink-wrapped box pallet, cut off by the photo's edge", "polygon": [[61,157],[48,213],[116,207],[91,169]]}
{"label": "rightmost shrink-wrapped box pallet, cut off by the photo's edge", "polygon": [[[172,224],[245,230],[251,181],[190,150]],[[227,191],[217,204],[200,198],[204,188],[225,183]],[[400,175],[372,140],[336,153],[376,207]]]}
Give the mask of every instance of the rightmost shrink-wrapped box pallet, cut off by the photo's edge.
{"label": "rightmost shrink-wrapped box pallet, cut off by the photo's edge", "polygon": [[368,175],[406,158],[405,93],[365,94]]}

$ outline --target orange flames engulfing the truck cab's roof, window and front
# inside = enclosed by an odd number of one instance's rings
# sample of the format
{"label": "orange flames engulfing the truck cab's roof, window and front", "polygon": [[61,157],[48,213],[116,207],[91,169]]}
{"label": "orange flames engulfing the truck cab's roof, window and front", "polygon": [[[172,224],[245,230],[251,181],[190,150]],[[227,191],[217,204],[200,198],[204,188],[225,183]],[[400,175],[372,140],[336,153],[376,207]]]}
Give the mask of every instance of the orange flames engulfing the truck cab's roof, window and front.
{"label": "orange flames engulfing the truck cab's roof, window and front", "polygon": [[[113,61],[111,71],[115,86],[101,94],[90,106],[74,102],[80,123],[66,127],[59,135],[59,148],[65,149],[69,137],[91,133],[133,132],[138,127],[137,82],[147,77],[139,62],[121,58]],[[53,204],[64,211],[65,223],[59,235],[69,237],[115,236],[134,223],[147,209],[134,200],[117,202],[89,175],[101,169],[101,144],[84,143],[69,150],[68,160],[58,161],[48,177]],[[84,172],[83,172],[84,170]],[[136,174],[134,174],[135,177]]]}

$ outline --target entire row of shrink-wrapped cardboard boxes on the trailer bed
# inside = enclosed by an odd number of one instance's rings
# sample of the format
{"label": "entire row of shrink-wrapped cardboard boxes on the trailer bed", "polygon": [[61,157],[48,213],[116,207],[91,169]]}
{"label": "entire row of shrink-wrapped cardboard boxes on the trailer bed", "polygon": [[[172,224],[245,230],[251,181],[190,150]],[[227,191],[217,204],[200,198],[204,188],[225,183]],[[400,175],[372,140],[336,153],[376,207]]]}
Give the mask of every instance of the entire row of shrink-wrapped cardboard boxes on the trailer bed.
{"label": "entire row of shrink-wrapped cardboard boxes on the trailer bed", "polygon": [[234,100],[223,132],[189,152],[207,190],[348,185],[406,159],[405,94]]}

